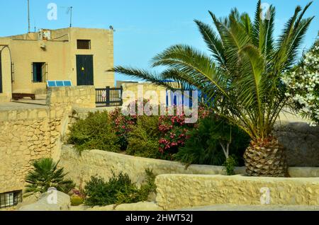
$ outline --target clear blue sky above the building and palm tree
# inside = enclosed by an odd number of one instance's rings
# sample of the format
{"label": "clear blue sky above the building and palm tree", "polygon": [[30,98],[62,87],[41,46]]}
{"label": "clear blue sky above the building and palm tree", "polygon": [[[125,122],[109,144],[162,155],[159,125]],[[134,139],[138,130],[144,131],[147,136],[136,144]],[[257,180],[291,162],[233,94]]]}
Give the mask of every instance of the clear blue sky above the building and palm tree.
{"label": "clear blue sky above the building and palm tree", "polygon": [[[276,7],[278,35],[297,5],[308,0],[264,0]],[[47,19],[47,5],[57,4],[57,21]],[[73,26],[108,28],[113,25],[116,65],[150,68],[150,59],[166,47],[189,44],[206,51],[194,19],[211,23],[208,10],[218,17],[227,16],[237,7],[254,16],[257,0],[30,0],[32,30],[69,26],[67,7],[73,6]],[[0,36],[28,31],[27,0],[0,0]],[[315,0],[306,16],[316,16],[310,25],[303,47],[309,47],[319,30],[319,0]],[[116,80],[131,79],[116,75]]]}

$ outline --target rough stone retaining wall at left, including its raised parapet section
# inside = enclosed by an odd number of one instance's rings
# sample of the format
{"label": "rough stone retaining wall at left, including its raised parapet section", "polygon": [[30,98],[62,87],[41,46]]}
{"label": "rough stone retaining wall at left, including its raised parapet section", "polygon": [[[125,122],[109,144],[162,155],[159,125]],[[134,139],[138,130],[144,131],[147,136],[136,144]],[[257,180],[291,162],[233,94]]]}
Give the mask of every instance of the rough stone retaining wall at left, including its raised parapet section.
{"label": "rough stone retaining wall at left, including its raised parapet section", "polygon": [[0,193],[23,190],[33,161],[60,158],[72,107],[91,108],[94,101],[93,86],[51,88],[46,106],[0,108]]}

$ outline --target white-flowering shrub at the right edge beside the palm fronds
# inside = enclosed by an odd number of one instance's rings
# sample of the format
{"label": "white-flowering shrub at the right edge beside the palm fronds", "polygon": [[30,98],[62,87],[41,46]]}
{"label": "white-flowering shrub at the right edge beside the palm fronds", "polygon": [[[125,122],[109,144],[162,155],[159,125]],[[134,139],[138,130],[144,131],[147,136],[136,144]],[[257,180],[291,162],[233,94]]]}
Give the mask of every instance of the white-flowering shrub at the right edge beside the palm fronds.
{"label": "white-flowering shrub at the right edge beside the palm fronds", "polygon": [[287,86],[286,96],[301,116],[319,123],[319,40],[304,55],[300,67],[284,74],[282,81]]}

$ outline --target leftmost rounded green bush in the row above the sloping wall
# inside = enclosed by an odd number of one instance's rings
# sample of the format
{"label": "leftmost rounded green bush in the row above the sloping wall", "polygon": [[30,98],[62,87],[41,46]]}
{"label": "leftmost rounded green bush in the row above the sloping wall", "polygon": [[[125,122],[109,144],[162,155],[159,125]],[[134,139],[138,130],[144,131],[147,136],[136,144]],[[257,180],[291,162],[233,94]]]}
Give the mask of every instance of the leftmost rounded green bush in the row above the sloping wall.
{"label": "leftmost rounded green bush in the row above the sloping wall", "polygon": [[77,151],[99,149],[120,151],[118,136],[115,134],[107,112],[89,113],[85,120],[78,120],[70,127],[68,144],[74,144]]}

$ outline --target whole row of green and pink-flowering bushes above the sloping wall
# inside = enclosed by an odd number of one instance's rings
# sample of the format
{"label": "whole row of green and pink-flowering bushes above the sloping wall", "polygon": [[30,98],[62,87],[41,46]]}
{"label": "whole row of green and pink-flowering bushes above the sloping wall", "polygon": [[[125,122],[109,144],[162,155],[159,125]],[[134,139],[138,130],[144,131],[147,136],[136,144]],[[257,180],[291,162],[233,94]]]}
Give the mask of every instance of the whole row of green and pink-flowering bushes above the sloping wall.
{"label": "whole row of green and pink-flowering bushes above the sloping wall", "polygon": [[186,115],[176,115],[176,107],[173,110],[174,115],[161,116],[123,115],[120,108],[109,114],[90,113],[72,125],[68,142],[80,152],[121,150],[132,156],[216,166],[225,162],[222,146],[229,145],[230,154],[243,164],[242,154],[249,143],[244,132],[204,107],[198,108],[198,121],[191,124],[186,124]]}

